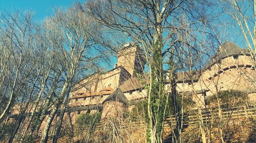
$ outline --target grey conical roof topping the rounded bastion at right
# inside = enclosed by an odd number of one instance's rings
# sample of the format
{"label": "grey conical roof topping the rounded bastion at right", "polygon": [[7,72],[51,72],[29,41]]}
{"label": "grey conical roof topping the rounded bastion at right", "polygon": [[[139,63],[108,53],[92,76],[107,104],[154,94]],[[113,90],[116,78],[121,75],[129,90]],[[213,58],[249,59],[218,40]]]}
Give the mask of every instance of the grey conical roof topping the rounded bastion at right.
{"label": "grey conical roof topping the rounded bastion at right", "polygon": [[218,63],[220,60],[233,55],[250,55],[250,51],[248,49],[240,48],[232,42],[226,41],[224,44],[220,45],[217,53],[212,56],[210,62],[205,66],[205,69]]}

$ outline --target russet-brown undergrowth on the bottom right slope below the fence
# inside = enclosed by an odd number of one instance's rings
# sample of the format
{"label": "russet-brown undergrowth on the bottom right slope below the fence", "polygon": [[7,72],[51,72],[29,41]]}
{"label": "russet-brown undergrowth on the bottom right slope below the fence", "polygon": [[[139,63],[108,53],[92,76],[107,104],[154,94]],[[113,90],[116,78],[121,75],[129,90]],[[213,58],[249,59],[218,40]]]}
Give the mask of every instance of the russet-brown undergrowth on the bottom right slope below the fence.
{"label": "russet-brown undergrowth on the bottom right slope below the fence", "polygon": [[[206,137],[209,142],[222,142],[220,134],[220,122],[216,121],[208,126],[205,126]],[[250,119],[243,118],[241,120],[233,119],[228,121],[223,130],[224,142],[255,142],[254,122]],[[209,136],[210,133],[210,136]],[[198,125],[188,125],[181,134],[182,142],[202,142],[201,132]]]}

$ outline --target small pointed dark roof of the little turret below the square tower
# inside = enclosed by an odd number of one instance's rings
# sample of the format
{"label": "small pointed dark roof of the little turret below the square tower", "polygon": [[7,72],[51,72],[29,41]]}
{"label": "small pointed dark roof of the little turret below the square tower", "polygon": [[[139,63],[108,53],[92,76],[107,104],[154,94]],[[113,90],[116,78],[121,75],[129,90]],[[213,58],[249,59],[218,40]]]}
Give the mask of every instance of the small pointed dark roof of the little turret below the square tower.
{"label": "small pointed dark roof of the little turret below the square tower", "polygon": [[102,102],[102,104],[106,101],[118,101],[118,102],[122,102],[125,105],[128,105],[129,103],[120,88],[117,88],[109,97],[107,97]]}

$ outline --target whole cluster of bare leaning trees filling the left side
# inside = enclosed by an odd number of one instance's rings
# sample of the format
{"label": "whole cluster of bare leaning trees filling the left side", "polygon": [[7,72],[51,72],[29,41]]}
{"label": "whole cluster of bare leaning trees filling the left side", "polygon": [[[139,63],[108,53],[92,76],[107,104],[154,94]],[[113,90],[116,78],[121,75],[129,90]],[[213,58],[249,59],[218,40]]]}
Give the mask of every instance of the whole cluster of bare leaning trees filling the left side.
{"label": "whole cluster of bare leaning trees filling the left side", "polygon": [[[57,9],[43,24],[34,23],[32,17],[19,11],[0,17],[0,121],[7,125],[11,109],[20,108],[9,137],[12,142],[34,135],[47,118],[41,137],[41,142],[47,142],[58,113],[53,135],[57,142],[74,78],[78,72],[92,74],[89,71],[106,54],[97,44],[101,26],[72,8]],[[1,127],[2,134],[5,126]]]}

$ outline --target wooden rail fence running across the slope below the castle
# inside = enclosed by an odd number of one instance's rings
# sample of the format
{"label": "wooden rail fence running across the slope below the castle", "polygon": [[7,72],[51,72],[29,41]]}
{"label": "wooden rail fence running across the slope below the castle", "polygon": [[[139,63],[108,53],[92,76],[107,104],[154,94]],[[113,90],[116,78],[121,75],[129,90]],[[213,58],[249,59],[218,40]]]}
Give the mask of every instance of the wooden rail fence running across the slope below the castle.
{"label": "wooden rail fence running across the slope below the castle", "polygon": [[[219,117],[219,110],[217,108],[209,108],[208,110],[203,110],[202,112],[203,122],[211,122]],[[199,123],[199,111],[194,110],[189,113],[184,113],[183,115],[183,125],[193,125]],[[256,106],[242,106],[242,107],[232,107],[232,108],[222,108],[221,109],[222,120],[239,119],[239,118],[256,118]],[[122,128],[129,128],[131,126],[140,126],[145,124],[145,119],[136,119],[131,121],[121,121],[119,125]],[[164,126],[176,125],[175,116],[167,116],[164,121]],[[108,122],[99,123],[95,126],[95,130],[104,130]],[[81,128],[81,127],[80,127]],[[83,129],[88,129],[89,126],[82,127]]]}

